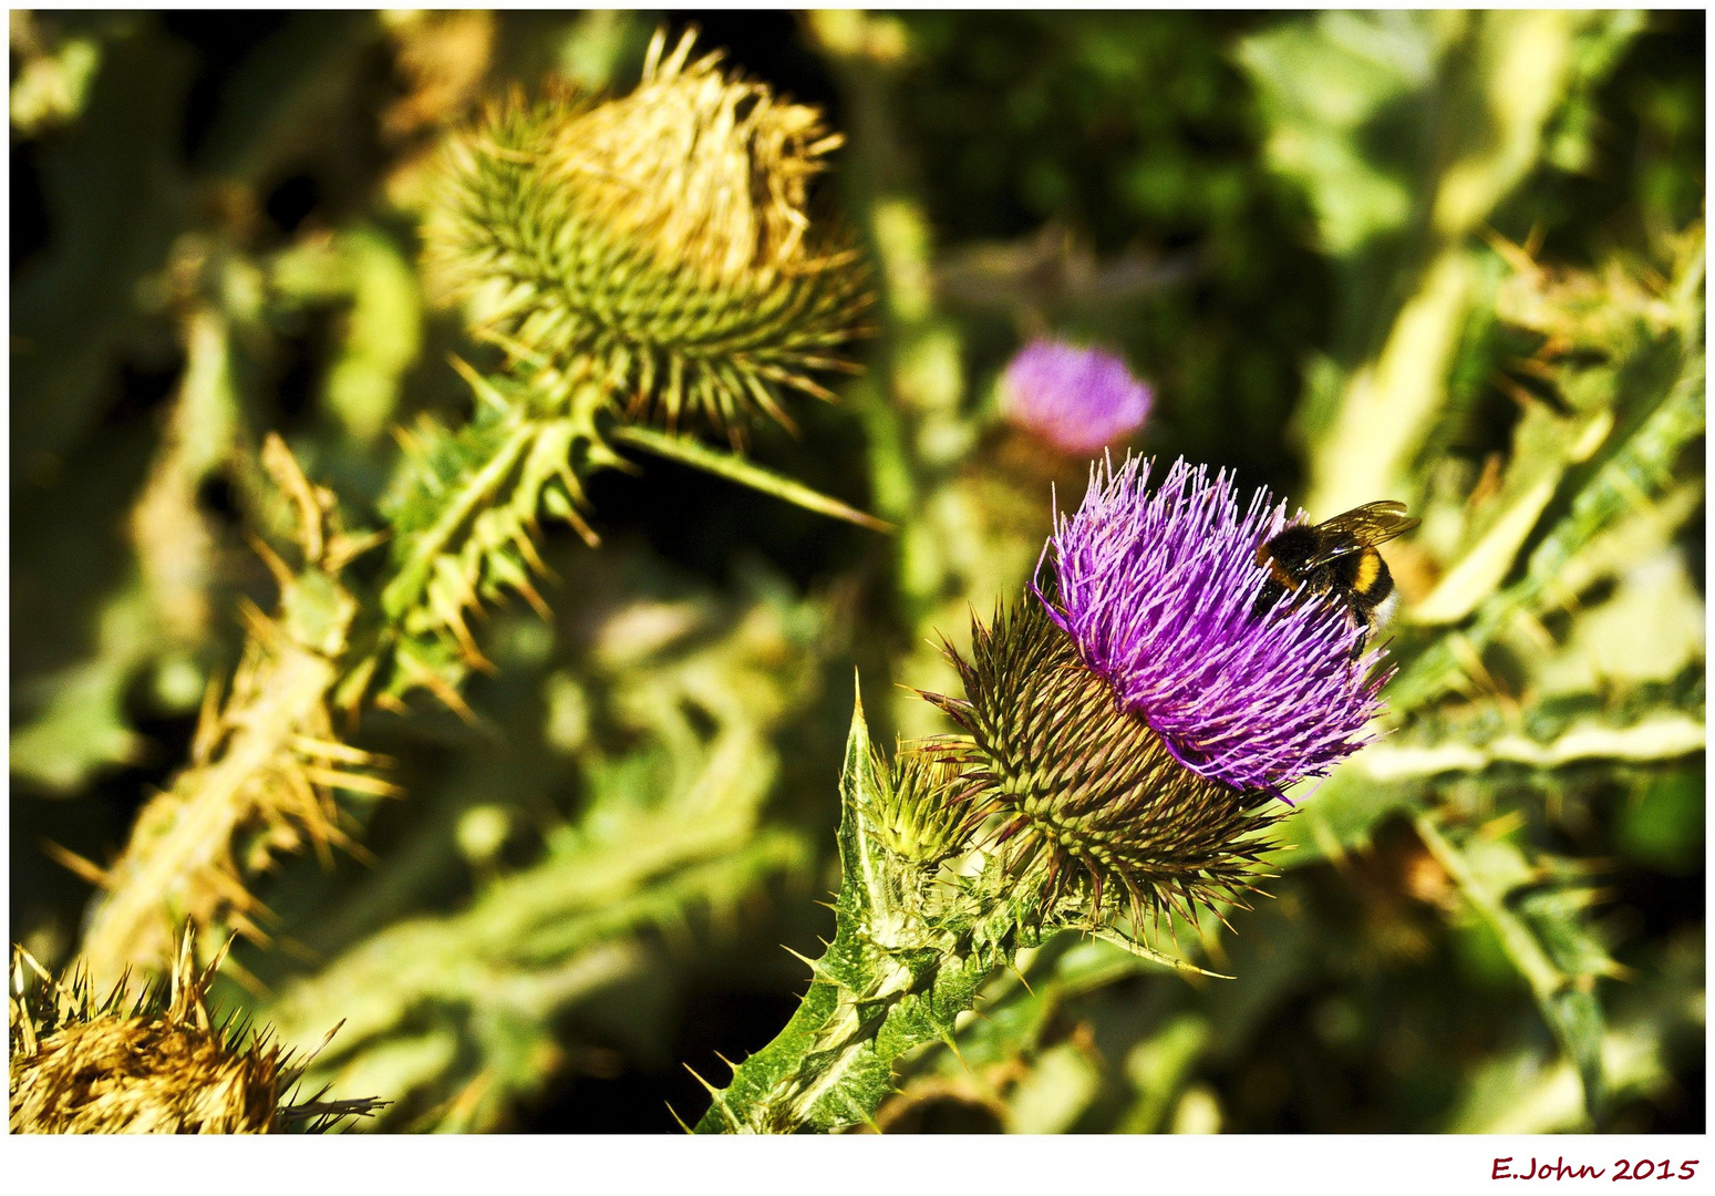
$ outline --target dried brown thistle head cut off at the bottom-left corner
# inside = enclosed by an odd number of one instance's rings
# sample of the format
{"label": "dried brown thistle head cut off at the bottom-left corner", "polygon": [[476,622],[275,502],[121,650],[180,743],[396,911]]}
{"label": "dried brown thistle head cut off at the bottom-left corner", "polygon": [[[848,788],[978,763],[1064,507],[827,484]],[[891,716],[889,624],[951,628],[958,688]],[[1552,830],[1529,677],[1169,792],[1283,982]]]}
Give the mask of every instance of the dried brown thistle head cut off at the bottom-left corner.
{"label": "dried brown thistle head cut off at the bottom-left corner", "polygon": [[[304,1066],[266,1031],[209,1011],[225,949],[196,966],[178,940],[172,976],[105,1000],[87,975],[55,980],[12,949],[9,1126],[14,1134],[266,1134],[293,1122],[326,1129],[377,1102],[295,1102]],[[305,1060],[307,1062],[307,1060]]]}

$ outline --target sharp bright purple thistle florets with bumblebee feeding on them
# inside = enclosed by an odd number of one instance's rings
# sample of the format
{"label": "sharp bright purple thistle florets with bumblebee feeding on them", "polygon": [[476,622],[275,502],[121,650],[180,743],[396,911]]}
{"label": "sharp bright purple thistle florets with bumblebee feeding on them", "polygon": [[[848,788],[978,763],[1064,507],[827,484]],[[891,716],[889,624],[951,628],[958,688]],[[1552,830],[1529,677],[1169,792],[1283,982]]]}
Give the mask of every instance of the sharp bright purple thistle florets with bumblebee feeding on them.
{"label": "sharp bright purple thistle florets with bumblebee feeding on them", "polygon": [[1050,537],[1050,614],[1187,769],[1276,794],[1327,776],[1369,741],[1382,652],[1353,659],[1365,630],[1327,599],[1252,614],[1267,580],[1257,547],[1288,525],[1285,503],[1257,491],[1240,515],[1225,470],[1211,482],[1183,460],[1149,494],[1149,467],[1091,468],[1082,508]]}

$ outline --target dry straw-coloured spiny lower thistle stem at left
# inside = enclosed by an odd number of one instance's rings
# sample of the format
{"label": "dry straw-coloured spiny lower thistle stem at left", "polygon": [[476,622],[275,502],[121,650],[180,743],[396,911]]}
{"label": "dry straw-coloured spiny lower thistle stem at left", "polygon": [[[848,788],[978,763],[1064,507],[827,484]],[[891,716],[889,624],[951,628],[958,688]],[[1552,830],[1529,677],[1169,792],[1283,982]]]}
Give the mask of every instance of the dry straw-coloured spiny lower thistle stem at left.
{"label": "dry straw-coloured spiny lower thistle stem at left", "polygon": [[[98,985],[132,969],[161,968],[173,927],[226,921],[266,940],[261,903],[244,875],[305,841],[328,858],[355,844],[340,825],[334,789],[394,794],[357,769],[384,764],[340,741],[329,695],[341,676],[355,599],[340,585],[345,565],[372,539],[340,527],[334,496],[312,486],[278,436],[262,465],[298,513],[304,566],[290,570],[266,544],[256,549],[280,583],[280,611],[240,607],[249,630],[226,700],[214,686],[202,704],[192,762],[137,817],[130,843],[108,868],[69,851],[53,855],[106,889],[84,935],[84,964]],[[242,839],[242,843],[240,843]]]}

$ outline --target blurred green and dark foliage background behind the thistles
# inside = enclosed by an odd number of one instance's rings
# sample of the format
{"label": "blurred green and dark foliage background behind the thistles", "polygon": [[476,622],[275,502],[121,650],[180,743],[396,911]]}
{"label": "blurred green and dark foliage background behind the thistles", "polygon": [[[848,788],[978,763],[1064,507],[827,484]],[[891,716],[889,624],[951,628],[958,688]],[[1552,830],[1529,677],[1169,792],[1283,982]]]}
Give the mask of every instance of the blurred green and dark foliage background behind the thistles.
{"label": "blurred green and dark foliage background behind the thistles", "polygon": [[271,602],[262,436],[372,511],[391,426],[468,417],[417,264],[439,137],[511,82],[628,89],[660,24],[847,134],[813,211],[880,335],[753,453],[900,530],[593,477],[552,623],[487,619],[477,726],[365,721],[408,796],[355,810],[374,861],[259,882],[278,945],[225,999],[346,1019],[321,1078],[384,1129],[695,1120],[683,1064],[761,1047],[780,944],[832,928],[854,664],[878,738],[943,729],[899,685],[1080,492],[995,414],[1056,333],[1154,386],[1130,448],[1425,516],[1401,728],[1209,944],[1237,980],[1044,947],[883,1127],[1701,1133],[1701,12],[14,12],[14,940],[74,956],[43,841],[123,846]]}

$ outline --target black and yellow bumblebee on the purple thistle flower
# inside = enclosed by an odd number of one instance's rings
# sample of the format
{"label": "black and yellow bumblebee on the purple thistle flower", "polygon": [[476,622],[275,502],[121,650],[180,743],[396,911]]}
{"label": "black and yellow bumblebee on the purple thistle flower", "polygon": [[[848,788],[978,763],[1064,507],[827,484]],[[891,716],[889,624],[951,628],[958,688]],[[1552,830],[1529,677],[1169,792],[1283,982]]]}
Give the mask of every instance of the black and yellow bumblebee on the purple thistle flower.
{"label": "black and yellow bumblebee on the purple thistle flower", "polygon": [[1267,566],[1269,580],[1252,613],[1262,614],[1291,590],[1333,594],[1369,633],[1393,595],[1393,573],[1375,546],[1418,522],[1406,518],[1405,503],[1365,503],[1326,523],[1288,527],[1257,546],[1257,565]]}

